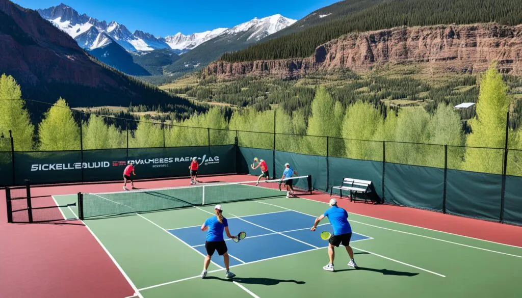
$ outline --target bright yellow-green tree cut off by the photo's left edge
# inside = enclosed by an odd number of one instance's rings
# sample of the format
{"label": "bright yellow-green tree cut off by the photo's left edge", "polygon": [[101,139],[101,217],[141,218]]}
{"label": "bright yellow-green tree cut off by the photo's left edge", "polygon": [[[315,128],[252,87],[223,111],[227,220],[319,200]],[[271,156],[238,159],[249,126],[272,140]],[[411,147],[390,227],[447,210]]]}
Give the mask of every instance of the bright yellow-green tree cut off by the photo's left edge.
{"label": "bright yellow-green tree cut off by the photo's left edge", "polygon": [[[20,85],[11,76],[0,77],[0,134],[13,134],[15,150],[29,151],[33,148],[34,126],[31,124],[29,112],[25,109],[25,102],[21,99]],[[7,144],[3,141],[2,144]],[[3,145],[0,145],[3,146]],[[5,146],[3,146],[5,147]],[[8,148],[0,150],[10,151]]]}

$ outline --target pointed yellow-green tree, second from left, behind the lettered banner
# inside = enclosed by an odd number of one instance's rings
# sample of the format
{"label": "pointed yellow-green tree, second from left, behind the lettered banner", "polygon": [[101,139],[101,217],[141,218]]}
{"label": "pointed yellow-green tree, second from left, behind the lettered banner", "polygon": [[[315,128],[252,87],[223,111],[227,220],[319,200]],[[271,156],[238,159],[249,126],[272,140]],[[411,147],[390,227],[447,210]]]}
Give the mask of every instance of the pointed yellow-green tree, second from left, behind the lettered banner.
{"label": "pointed yellow-green tree, second from left, behind the lettered banner", "polygon": [[65,99],[58,99],[44,115],[39,129],[40,150],[80,150],[80,128]]}

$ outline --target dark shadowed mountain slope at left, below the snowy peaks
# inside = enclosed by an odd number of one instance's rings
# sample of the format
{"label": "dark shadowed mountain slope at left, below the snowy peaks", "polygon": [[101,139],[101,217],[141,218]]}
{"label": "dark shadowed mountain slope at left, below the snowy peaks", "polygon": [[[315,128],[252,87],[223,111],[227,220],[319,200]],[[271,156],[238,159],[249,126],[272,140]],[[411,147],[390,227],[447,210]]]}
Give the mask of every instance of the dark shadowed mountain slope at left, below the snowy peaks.
{"label": "dark shadowed mountain slope at left, below the snowy peaks", "polygon": [[[104,46],[111,45],[117,44]],[[132,102],[170,104],[181,113],[204,110],[99,63],[36,11],[8,0],[0,0],[0,56],[7,57],[0,59],[0,74],[16,79],[24,99],[53,103],[62,97],[72,107],[128,106]],[[43,111],[38,109],[42,106],[48,109],[44,105],[28,107],[41,115]]]}

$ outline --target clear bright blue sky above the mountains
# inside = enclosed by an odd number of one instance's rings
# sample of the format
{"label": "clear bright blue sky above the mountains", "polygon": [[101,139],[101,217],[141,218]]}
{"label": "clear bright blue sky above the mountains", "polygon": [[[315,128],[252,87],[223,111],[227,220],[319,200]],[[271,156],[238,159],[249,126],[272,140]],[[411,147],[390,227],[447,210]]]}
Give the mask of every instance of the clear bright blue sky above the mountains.
{"label": "clear bright blue sky above the mountains", "polygon": [[[80,14],[108,22],[115,20],[129,30],[139,29],[157,36],[177,32],[190,34],[281,14],[300,19],[312,11],[339,0],[62,0]],[[14,0],[22,7],[38,9],[56,6],[60,0]]]}

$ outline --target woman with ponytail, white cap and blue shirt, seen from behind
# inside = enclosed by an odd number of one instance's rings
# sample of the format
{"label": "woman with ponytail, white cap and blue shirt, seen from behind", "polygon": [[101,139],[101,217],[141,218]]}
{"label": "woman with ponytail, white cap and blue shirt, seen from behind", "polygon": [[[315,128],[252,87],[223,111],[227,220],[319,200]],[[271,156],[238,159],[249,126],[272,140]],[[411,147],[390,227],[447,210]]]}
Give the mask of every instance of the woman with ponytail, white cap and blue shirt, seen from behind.
{"label": "woman with ponytail, white cap and blue shirt, seen from behind", "polygon": [[223,210],[221,209],[221,205],[216,205],[214,207],[214,212],[216,216],[213,216],[207,219],[203,225],[201,225],[201,231],[207,231],[207,239],[205,241],[205,248],[207,249],[207,256],[205,257],[205,262],[203,263],[203,272],[201,272],[201,278],[207,276],[208,265],[210,265],[210,259],[215,251],[218,251],[220,256],[223,256],[223,261],[225,263],[225,268],[227,269],[226,277],[233,278],[235,276],[234,273],[230,272],[229,268],[229,255],[227,244],[223,239],[223,230],[227,232],[227,236],[230,239],[236,238],[236,236],[232,236],[228,229],[228,221],[223,217]]}

